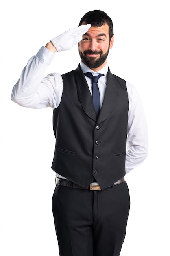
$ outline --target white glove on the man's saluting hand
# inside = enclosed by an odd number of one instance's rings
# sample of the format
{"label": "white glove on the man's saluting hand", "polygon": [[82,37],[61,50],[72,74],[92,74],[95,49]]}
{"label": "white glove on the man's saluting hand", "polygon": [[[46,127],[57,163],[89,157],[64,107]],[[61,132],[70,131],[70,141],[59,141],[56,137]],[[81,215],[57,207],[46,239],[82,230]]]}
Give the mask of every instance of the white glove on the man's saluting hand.
{"label": "white glove on the man's saluting hand", "polygon": [[75,27],[52,39],[51,42],[56,47],[57,52],[70,50],[76,43],[81,41],[82,36],[90,27],[91,24]]}

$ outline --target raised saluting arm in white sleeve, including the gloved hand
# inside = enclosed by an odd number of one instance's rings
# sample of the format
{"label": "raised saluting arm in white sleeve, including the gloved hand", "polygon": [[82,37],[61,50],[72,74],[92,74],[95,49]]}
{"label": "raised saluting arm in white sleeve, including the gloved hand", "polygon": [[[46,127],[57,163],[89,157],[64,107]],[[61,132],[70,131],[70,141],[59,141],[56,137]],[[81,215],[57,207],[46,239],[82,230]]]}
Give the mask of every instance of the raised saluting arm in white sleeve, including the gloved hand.
{"label": "raised saluting arm in white sleeve, including the gloved hand", "polygon": [[52,73],[44,77],[55,52],[71,49],[82,39],[91,25],[70,29],[41,47],[39,52],[28,60],[21,76],[14,85],[11,99],[28,108],[57,108],[60,103],[63,81],[60,74]]}

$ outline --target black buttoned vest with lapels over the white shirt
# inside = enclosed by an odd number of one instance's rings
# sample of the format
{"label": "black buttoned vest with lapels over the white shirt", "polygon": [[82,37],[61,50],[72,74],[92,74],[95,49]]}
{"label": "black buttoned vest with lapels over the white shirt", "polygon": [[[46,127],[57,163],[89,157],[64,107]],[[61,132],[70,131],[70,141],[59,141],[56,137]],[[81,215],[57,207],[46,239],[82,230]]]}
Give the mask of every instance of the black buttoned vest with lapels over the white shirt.
{"label": "black buttoned vest with lapels over the white shirt", "polygon": [[105,189],[125,175],[126,82],[108,71],[105,98],[96,119],[80,66],[62,77],[61,103],[53,112],[56,146],[52,169],[85,188],[96,179]]}

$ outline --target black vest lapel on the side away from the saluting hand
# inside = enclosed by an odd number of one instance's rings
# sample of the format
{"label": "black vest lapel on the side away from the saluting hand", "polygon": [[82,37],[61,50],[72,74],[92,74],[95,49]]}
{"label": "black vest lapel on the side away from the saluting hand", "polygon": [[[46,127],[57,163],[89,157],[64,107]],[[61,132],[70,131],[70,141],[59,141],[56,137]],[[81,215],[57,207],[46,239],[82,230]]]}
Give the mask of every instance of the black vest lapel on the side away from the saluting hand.
{"label": "black vest lapel on the side away from the saluting hand", "polygon": [[109,117],[113,111],[116,102],[116,82],[114,75],[111,74],[110,70],[107,72],[107,87],[105,92],[104,101],[102,103],[102,108],[98,116],[98,123],[104,121]]}

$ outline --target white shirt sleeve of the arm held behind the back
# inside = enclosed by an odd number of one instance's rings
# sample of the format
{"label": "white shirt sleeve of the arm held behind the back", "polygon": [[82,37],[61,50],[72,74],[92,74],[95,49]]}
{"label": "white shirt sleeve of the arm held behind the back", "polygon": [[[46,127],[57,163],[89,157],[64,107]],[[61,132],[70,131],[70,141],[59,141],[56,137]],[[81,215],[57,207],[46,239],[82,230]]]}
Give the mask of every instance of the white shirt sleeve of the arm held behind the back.
{"label": "white shirt sleeve of the arm held behind the back", "polygon": [[139,166],[148,155],[148,127],[144,108],[135,87],[126,82],[129,112],[126,150],[126,174]]}

